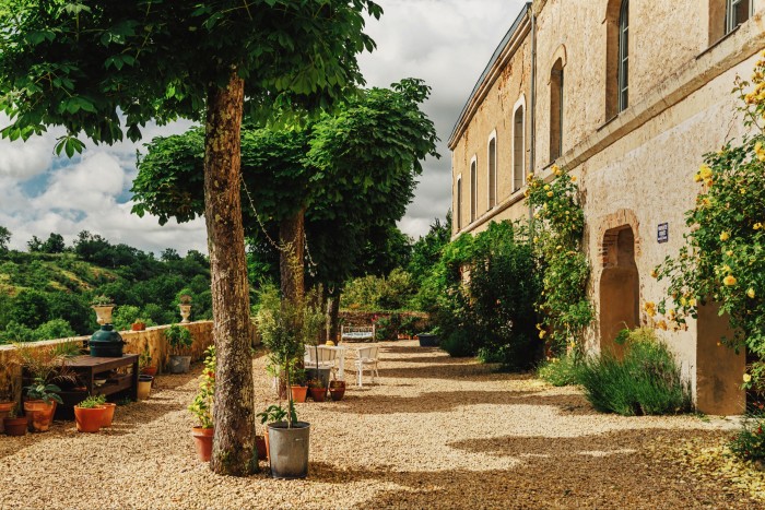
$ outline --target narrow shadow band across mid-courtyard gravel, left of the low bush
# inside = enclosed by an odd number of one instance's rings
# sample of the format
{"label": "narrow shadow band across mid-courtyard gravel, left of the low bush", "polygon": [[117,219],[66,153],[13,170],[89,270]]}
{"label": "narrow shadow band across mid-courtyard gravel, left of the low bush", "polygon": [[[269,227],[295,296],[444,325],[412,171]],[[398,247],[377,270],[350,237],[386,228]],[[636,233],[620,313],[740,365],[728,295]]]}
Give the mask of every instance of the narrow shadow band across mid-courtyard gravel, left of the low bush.
{"label": "narrow shadow band across mid-courtyard gravel, left of the low bush", "polygon": [[[343,405],[343,402],[346,402]],[[358,402],[360,406],[354,405]],[[349,399],[328,412],[378,415],[391,413],[444,413],[467,405],[546,405],[563,415],[598,415],[578,394],[545,395],[536,391],[439,391],[419,396],[364,395]]]}

